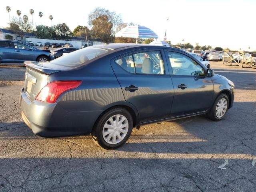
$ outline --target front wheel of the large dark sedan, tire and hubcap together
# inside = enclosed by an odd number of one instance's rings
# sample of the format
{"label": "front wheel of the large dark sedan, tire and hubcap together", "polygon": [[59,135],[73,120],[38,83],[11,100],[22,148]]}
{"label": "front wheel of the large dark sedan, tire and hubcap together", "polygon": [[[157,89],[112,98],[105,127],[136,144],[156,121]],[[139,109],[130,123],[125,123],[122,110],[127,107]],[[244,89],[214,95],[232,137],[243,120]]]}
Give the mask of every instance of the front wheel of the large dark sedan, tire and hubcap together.
{"label": "front wheel of the large dark sedan, tire and hubcap together", "polygon": [[[226,100],[226,102],[224,100]],[[218,96],[218,98],[215,100],[211,110],[207,113],[208,118],[213,121],[222,120],[225,114],[228,112],[228,106],[228,96],[226,94],[220,94],[220,96]],[[216,109],[217,107],[219,110]]]}

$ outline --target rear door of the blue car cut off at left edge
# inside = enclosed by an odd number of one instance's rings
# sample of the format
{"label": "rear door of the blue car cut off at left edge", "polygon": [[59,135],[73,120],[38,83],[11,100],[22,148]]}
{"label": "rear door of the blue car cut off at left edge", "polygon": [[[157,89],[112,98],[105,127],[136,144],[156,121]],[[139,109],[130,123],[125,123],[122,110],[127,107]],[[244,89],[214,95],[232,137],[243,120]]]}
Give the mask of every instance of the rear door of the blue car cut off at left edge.
{"label": "rear door of the blue car cut off at left edge", "polygon": [[11,41],[0,41],[0,62],[14,62],[15,51]]}

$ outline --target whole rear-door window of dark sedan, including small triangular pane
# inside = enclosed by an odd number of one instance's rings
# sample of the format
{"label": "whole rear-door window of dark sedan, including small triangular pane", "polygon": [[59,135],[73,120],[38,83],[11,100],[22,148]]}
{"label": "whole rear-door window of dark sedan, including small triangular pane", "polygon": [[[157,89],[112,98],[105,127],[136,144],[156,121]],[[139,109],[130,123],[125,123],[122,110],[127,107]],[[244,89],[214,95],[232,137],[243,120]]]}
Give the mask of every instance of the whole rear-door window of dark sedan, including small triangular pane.
{"label": "whole rear-door window of dark sedan, including small triangular pane", "polygon": [[164,74],[160,51],[147,51],[115,60],[124,70],[137,74]]}

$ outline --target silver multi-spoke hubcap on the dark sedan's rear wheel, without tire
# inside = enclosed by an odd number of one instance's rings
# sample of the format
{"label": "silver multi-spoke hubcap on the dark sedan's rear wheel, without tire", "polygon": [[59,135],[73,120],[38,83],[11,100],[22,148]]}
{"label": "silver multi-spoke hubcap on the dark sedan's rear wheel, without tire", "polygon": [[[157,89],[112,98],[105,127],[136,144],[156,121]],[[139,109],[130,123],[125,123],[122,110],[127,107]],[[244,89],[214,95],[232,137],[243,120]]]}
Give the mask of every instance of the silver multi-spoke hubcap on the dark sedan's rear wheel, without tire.
{"label": "silver multi-spoke hubcap on the dark sedan's rear wheel, without tire", "polygon": [[117,114],[110,117],[104,124],[102,135],[108,144],[117,144],[126,136],[129,128],[128,120],[125,116]]}

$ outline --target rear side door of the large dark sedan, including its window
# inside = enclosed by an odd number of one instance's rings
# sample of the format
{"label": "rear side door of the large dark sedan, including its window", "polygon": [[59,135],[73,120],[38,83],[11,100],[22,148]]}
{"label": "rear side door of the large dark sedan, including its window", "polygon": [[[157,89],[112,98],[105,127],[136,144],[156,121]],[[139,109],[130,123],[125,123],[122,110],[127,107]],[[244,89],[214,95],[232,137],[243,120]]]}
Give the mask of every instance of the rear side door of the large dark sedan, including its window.
{"label": "rear side door of the large dark sedan, including its window", "polygon": [[137,108],[141,123],[164,119],[170,114],[174,91],[162,55],[163,50],[150,49],[111,61],[124,98]]}

